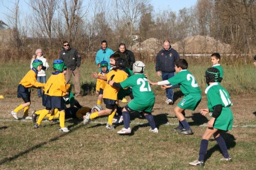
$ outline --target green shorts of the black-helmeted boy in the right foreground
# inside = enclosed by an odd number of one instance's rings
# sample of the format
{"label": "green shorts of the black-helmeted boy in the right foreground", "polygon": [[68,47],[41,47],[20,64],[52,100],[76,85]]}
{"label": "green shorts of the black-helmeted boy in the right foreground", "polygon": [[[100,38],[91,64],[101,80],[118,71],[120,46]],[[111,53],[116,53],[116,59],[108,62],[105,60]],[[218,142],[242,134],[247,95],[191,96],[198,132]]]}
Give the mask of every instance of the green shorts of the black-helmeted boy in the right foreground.
{"label": "green shorts of the black-helmeted boy in the right foreground", "polygon": [[231,130],[233,125],[233,113],[229,107],[223,107],[221,114],[216,118],[213,127],[219,130]]}

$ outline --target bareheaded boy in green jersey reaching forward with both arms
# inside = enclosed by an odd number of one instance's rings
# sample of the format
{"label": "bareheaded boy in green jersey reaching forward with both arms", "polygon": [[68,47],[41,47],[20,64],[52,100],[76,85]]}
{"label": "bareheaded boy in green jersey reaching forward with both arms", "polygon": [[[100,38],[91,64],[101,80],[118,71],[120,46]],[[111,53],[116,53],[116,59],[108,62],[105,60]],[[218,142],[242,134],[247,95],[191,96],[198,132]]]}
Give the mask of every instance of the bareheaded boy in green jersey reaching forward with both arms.
{"label": "bareheaded boy in green jersey reaching forward with both arms", "polygon": [[[201,101],[201,89],[191,72],[187,70],[188,63],[185,59],[179,59],[174,62],[175,76],[165,81],[157,83],[150,82],[152,85],[161,85],[161,89],[171,88],[179,84],[181,92],[185,95],[180,103],[174,108],[175,115],[179,119],[179,126],[174,128],[179,135],[192,135],[193,131],[185,119],[185,110],[195,110]],[[171,84],[167,86],[167,84]]]}

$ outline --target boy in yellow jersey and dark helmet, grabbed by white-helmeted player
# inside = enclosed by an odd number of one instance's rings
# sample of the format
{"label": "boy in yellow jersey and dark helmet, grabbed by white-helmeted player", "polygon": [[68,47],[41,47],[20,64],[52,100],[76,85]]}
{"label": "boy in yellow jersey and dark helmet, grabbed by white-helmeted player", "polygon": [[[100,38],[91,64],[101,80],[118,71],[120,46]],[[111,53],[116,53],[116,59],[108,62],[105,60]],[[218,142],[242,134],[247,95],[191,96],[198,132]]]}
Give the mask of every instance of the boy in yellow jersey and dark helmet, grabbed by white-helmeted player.
{"label": "boy in yellow jersey and dark helmet, grabbed by white-helmeted player", "polygon": [[[120,58],[120,55],[117,53],[114,53],[110,57],[110,64],[112,67],[112,70],[107,75],[107,82],[108,81],[115,81],[115,82],[122,82],[126,78],[128,78],[127,73],[124,71],[125,68],[125,60]],[[113,87],[109,84],[106,84],[106,87],[103,92],[103,101],[106,104],[106,109],[101,110],[99,112],[95,113],[87,113],[86,117],[84,119],[84,124],[87,124],[90,120],[103,116],[103,115],[109,115],[108,117],[108,124],[106,125],[106,129],[113,130],[113,117],[116,113],[116,101],[118,101],[117,93],[119,91],[119,88]]]}

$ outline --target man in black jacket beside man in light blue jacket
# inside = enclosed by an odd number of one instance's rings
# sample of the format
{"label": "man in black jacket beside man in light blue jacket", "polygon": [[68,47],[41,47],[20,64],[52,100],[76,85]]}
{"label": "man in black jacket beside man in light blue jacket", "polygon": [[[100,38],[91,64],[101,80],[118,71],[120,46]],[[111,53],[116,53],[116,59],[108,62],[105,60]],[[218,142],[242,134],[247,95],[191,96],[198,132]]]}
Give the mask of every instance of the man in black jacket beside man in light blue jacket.
{"label": "man in black jacket beside man in light blue jacket", "polygon": [[126,61],[126,66],[132,70],[132,65],[135,62],[134,53],[126,49],[125,43],[119,44],[119,49],[116,50],[119,53],[120,57]]}

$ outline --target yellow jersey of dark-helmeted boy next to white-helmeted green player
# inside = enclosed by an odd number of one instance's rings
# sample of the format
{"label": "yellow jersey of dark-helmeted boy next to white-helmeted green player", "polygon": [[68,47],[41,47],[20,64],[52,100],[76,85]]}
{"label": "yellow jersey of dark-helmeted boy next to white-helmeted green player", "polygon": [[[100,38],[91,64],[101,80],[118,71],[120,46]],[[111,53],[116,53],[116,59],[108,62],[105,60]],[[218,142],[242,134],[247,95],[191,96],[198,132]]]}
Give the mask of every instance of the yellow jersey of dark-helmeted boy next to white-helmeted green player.
{"label": "yellow jersey of dark-helmeted boy next to white-helmeted green player", "polygon": [[[128,78],[128,74],[124,70],[116,69],[111,70],[107,75],[107,82],[110,80],[115,81],[116,83],[120,83],[124,81],[126,78]],[[117,93],[119,91],[119,88],[113,87],[109,84],[106,84],[104,92],[103,92],[103,98],[108,98],[112,100],[118,100]]]}

